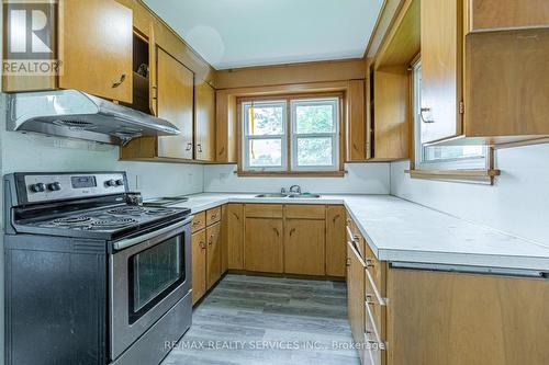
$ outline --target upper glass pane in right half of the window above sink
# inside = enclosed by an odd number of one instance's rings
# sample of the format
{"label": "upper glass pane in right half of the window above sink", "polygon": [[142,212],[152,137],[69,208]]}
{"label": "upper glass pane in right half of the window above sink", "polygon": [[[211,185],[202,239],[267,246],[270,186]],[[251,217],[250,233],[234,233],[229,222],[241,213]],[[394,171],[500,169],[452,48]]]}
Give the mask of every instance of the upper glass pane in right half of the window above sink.
{"label": "upper glass pane in right half of the window above sink", "polygon": [[298,134],[334,133],[334,104],[310,104],[295,106],[295,130]]}

